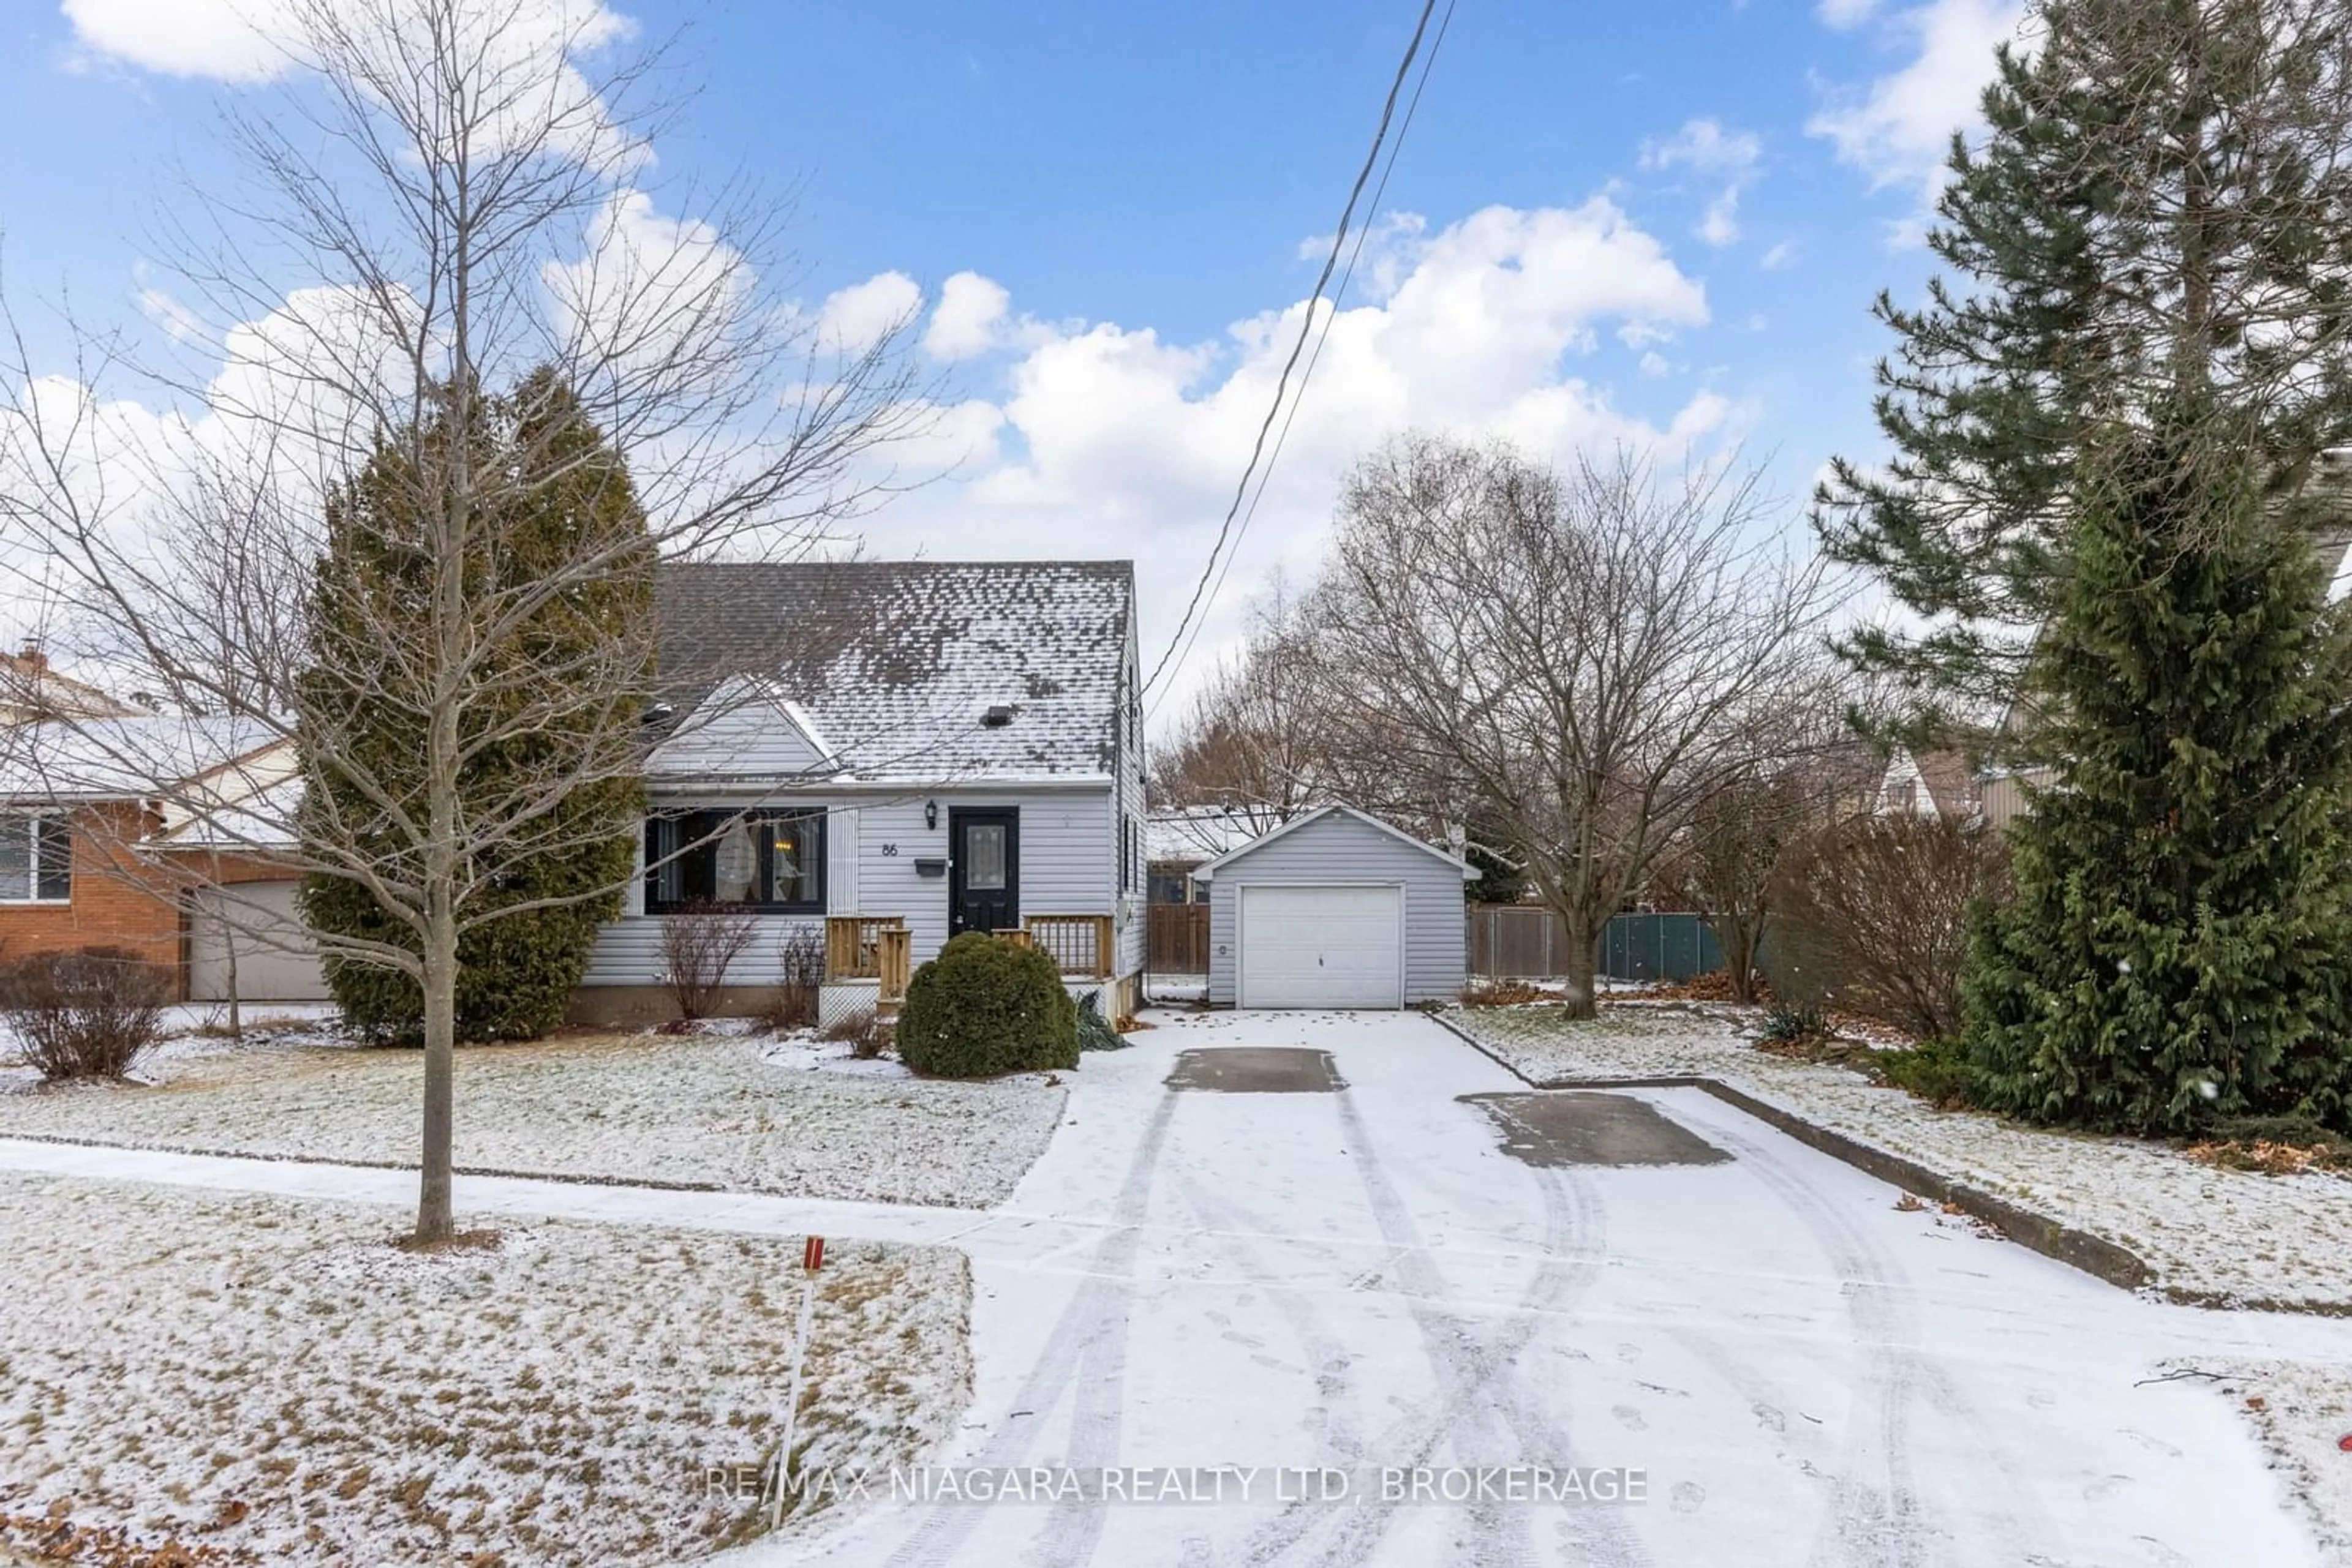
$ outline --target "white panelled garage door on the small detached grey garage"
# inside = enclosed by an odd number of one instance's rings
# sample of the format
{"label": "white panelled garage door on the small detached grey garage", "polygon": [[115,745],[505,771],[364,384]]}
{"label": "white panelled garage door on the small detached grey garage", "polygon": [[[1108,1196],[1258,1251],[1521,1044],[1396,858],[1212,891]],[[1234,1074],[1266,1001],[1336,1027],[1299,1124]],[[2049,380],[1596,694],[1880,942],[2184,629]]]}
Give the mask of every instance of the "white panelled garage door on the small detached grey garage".
{"label": "white panelled garage door on the small detached grey garage", "polygon": [[1242,1006],[1404,1006],[1392,886],[1244,886]]}

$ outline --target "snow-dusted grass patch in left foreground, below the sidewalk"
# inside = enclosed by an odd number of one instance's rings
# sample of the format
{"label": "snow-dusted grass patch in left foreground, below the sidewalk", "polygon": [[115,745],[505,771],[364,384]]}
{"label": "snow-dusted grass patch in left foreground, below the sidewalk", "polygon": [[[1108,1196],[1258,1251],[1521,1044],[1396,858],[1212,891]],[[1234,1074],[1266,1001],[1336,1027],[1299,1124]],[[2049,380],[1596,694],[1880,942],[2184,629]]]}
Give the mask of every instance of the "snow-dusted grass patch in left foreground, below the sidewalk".
{"label": "snow-dusted grass patch in left foreground, below the sidewalk", "polygon": [[[400,1220],[0,1178],[0,1561],[59,1519],[73,1561],[120,1530],[200,1552],[139,1561],[506,1568],[764,1528],[710,1472],[781,1434],[797,1241],[548,1222],[412,1255]],[[851,1244],[818,1279],[802,1462],[917,1460],[969,1399],[962,1255]]]}

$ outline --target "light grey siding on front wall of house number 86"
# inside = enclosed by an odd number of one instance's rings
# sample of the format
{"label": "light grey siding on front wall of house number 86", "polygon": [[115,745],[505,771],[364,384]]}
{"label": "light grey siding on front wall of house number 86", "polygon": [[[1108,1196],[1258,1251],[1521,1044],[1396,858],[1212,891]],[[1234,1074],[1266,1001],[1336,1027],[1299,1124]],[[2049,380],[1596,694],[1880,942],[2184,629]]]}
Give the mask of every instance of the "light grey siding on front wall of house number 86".
{"label": "light grey siding on front wall of house number 86", "polygon": [[[922,825],[927,799],[938,802],[938,827]],[[767,797],[760,804],[826,806],[826,912],[896,914],[908,924],[913,957],[922,964],[948,940],[948,877],[922,877],[915,863],[948,856],[948,811],[955,806],[1021,811],[1021,914],[1110,914],[1117,879],[1110,799],[1110,785],[1004,785],[880,799]],[[640,860],[642,853],[640,844]],[[661,919],[642,910],[640,879],[630,884],[621,919],[597,931],[581,985],[661,980]],[[776,952],[786,931],[823,926],[823,919],[809,914],[762,914],[757,922],[760,936],[727,976],[736,985],[774,985]]]}

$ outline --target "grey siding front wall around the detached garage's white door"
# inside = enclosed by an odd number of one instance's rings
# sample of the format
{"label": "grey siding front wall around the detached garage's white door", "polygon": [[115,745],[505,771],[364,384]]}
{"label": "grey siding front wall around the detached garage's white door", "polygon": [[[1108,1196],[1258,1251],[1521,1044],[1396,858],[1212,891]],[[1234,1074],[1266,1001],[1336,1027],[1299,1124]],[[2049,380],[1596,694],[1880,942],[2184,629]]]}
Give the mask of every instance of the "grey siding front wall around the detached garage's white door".
{"label": "grey siding front wall around the detached garage's white door", "polygon": [[1461,992],[1468,964],[1461,867],[1371,823],[1331,813],[1216,867],[1209,879],[1211,1006],[1235,1004],[1240,893],[1254,882],[1378,882],[1404,889],[1404,999],[1444,1001]]}

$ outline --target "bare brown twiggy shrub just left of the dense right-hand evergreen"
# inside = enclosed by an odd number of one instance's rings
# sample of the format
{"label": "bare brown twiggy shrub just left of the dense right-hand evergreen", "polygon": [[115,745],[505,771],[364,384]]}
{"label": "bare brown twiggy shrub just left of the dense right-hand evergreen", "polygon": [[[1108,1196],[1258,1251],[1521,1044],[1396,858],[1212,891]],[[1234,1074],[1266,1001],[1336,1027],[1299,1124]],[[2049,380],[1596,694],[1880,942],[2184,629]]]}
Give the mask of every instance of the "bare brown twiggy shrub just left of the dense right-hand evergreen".
{"label": "bare brown twiggy shrub just left of the dense right-hand evergreen", "polygon": [[1790,856],[1769,978],[1792,1006],[1835,1006],[1915,1039],[1959,1027],[1969,905],[2002,898],[2009,846],[1952,818],[1863,818]]}

